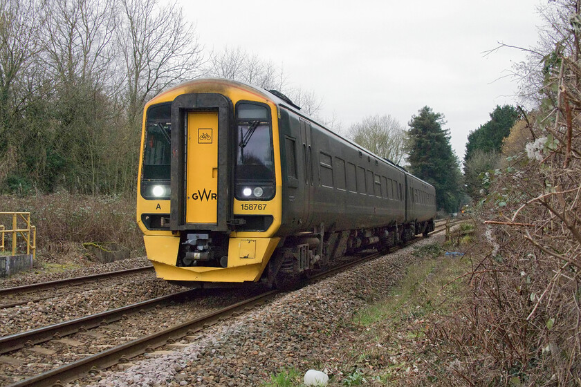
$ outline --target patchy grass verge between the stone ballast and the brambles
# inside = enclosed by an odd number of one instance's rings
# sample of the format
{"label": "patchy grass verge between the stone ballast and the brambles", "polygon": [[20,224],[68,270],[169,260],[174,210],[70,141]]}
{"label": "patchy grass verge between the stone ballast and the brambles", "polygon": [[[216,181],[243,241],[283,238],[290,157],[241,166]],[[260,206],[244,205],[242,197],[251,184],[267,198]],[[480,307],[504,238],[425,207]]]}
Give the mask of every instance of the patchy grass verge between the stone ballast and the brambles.
{"label": "patchy grass verge between the stone ballast and the brambles", "polygon": [[367,344],[354,350],[351,363],[343,365],[344,385],[358,386],[365,372],[368,383],[398,386],[407,372],[413,374],[416,364],[421,364],[425,352],[421,348],[432,321],[454,312],[463,299],[463,274],[470,270],[468,256],[450,257],[443,252],[436,244],[416,249],[414,255],[425,261],[408,267],[389,296],[353,315]]}

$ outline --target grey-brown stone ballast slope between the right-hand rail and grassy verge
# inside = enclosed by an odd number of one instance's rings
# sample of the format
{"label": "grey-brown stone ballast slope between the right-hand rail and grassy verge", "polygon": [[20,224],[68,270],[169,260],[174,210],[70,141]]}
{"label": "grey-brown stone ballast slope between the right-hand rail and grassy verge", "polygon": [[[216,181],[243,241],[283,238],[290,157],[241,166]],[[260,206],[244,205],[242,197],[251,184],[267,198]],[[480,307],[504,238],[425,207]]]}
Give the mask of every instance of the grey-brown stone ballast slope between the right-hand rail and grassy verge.
{"label": "grey-brown stone ballast slope between the right-hand rail and grassy verge", "polygon": [[[421,240],[434,243],[441,237]],[[420,258],[407,247],[279,296],[268,305],[205,330],[180,350],[146,354],[136,365],[102,371],[68,386],[259,386],[283,368],[333,370],[349,346],[353,314],[389,294]],[[167,348],[165,348],[167,349]],[[340,385],[340,376],[331,385]]]}

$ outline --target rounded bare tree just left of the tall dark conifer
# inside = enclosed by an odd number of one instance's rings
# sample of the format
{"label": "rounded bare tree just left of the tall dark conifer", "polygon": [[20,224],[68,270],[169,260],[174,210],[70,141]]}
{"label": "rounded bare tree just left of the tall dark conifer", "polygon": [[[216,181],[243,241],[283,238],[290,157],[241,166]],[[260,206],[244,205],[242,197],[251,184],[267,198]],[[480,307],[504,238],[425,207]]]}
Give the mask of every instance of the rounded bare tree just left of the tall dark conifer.
{"label": "rounded bare tree just left of the tall dark conifer", "polygon": [[405,131],[391,115],[371,115],[351,125],[347,136],[396,164],[403,160]]}

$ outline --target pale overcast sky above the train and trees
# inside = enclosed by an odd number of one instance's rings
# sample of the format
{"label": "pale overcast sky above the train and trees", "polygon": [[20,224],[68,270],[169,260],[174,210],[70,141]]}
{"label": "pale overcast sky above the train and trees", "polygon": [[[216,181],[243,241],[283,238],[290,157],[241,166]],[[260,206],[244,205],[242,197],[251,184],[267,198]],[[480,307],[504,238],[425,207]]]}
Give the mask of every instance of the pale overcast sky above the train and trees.
{"label": "pale overcast sky above the train and trees", "polygon": [[443,113],[463,158],[470,131],[515,104],[509,75],[530,47],[546,0],[181,0],[205,53],[240,47],[282,66],[289,86],[314,91],[343,133],[367,115],[407,129],[423,106]]}

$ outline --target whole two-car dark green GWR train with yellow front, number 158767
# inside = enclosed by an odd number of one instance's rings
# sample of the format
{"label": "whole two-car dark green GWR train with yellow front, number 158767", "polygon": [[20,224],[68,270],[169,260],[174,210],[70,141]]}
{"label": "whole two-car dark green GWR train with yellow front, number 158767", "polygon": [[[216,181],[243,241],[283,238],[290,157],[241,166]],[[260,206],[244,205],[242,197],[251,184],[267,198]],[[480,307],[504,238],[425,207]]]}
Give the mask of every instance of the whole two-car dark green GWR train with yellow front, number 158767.
{"label": "whole two-car dark green GWR train with yellow front, number 158767", "polygon": [[156,275],[279,286],[434,230],[436,191],[275,90],[194,79],[144,108],[137,223]]}

